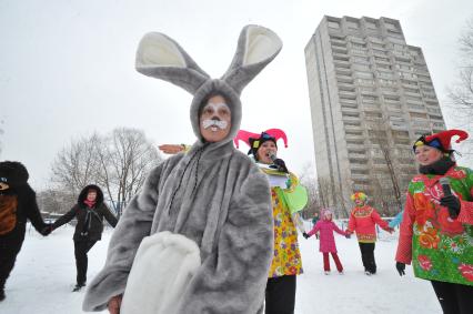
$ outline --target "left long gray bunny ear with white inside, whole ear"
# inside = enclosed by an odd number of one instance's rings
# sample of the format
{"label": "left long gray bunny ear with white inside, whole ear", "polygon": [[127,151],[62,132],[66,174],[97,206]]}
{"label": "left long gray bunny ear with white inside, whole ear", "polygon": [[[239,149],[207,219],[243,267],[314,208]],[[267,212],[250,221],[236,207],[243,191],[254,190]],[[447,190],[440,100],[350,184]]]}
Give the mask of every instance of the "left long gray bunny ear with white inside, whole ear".
{"label": "left long gray bunny ear with white inside, whole ear", "polygon": [[210,79],[191,57],[163,33],[147,33],[137,51],[138,72],[183,88],[191,94]]}

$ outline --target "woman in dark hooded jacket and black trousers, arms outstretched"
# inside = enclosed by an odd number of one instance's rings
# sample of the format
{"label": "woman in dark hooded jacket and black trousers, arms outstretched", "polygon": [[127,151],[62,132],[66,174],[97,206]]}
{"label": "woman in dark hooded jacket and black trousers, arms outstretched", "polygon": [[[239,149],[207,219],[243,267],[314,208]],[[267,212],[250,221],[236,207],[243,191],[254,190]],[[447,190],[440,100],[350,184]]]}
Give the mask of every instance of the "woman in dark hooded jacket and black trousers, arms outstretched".
{"label": "woman in dark hooded jacket and black trousers, arms outstretched", "polygon": [[117,225],[117,217],[103,203],[102,190],[93,184],[82,189],[78,203],[52,224],[52,230],[70,222],[73,217],[77,219],[73,236],[77,284],[73,291],[79,291],[87,282],[87,253],[102,237],[103,217],[113,227]]}

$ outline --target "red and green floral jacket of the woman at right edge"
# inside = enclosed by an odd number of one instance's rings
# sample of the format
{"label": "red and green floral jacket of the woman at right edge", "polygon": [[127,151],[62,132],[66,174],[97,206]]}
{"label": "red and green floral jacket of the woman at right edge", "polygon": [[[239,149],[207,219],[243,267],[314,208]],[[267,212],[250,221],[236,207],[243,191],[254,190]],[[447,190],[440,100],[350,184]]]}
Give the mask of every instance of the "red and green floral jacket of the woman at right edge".
{"label": "red and green floral jacket of the woman at right edge", "polygon": [[[452,168],[452,193],[461,201],[462,217],[451,219],[449,210],[440,205],[443,190],[442,175],[417,175],[410,185],[401,224],[396,261],[412,264],[417,277],[473,285],[473,226],[467,212],[472,210],[473,172],[466,168]],[[409,251],[412,241],[412,254]]]}

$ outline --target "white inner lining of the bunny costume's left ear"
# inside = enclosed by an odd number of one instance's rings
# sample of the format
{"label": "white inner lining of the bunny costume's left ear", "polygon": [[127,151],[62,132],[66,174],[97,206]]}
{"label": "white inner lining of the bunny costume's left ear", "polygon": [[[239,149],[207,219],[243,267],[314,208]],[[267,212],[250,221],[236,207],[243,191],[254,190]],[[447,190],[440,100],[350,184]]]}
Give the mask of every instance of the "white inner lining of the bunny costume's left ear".
{"label": "white inner lining of the bunny costume's left ear", "polygon": [[187,68],[185,59],[174,42],[161,33],[147,33],[137,52],[137,67]]}

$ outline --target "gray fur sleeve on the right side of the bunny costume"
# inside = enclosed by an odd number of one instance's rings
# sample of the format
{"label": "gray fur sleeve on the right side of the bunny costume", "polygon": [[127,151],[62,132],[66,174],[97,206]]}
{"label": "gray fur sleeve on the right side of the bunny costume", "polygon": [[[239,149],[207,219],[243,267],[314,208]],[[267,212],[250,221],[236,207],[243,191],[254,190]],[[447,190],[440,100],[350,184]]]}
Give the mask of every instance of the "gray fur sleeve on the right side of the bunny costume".
{"label": "gray fur sleeve on the right side of the bunny costume", "polygon": [[202,261],[177,313],[261,311],[272,252],[270,186],[254,170],[234,191],[218,247]]}

